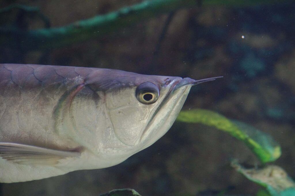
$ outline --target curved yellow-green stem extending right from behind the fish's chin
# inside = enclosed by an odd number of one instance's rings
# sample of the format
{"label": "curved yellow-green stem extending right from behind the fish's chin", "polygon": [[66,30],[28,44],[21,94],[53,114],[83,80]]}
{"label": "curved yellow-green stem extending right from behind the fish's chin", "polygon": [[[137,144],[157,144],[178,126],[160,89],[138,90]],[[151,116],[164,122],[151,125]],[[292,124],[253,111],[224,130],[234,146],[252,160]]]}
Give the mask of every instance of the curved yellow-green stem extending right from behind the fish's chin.
{"label": "curved yellow-green stem extending right from behind the fish's chin", "polygon": [[210,110],[195,109],[181,111],[180,122],[201,123],[215,127],[243,141],[261,162],[275,161],[281,156],[281,147],[270,135],[237,120],[230,120]]}

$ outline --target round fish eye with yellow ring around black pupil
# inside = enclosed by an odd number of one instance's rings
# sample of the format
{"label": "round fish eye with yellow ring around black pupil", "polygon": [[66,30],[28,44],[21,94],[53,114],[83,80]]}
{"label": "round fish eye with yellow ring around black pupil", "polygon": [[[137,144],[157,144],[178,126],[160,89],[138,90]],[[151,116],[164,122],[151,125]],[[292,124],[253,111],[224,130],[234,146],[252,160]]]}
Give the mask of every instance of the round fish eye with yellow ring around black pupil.
{"label": "round fish eye with yellow ring around black pupil", "polygon": [[144,82],[137,86],[135,95],[137,100],[143,104],[155,103],[159,98],[159,88],[152,82]]}

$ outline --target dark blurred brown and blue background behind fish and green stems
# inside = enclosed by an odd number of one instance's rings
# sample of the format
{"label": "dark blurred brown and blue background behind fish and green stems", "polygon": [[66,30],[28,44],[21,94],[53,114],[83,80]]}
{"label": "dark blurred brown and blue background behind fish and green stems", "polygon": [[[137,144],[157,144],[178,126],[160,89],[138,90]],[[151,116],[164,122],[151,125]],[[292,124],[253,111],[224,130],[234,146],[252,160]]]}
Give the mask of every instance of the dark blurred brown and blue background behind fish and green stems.
{"label": "dark blurred brown and blue background behind fish and green stems", "polygon": [[[1,0],[0,62],[193,79],[224,76],[194,86],[183,109],[212,110],[270,134],[282,151],[272,164],[295,179],[294,1],[179,4],[174,11],[157,10],[155,17],[140,16],[130,25],[60,46],[40,47],[42,39],[36,44],[7,34],[7,29],[62,27],[140,2]],[[7,6],[12,9],[5,10]],[[137,17],[136,12],[132,17]],[[242,141],[205,125],[175,122],[155,144],[117,166],[1,184],[0,195],[99,195],[119,188],[132,188],[144,196],[256,195],[263,188],[235,171],[232,158],[260,165]]]}

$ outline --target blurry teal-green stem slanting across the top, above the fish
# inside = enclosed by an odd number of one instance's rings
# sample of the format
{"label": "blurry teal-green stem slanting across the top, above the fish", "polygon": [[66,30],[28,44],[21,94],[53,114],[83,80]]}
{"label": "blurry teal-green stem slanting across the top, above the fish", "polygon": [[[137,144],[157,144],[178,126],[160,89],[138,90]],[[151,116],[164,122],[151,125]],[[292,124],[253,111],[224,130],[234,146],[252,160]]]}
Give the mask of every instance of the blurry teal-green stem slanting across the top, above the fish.
{"label": "blurry teal-green stem slanting across the top, above the fish", "polygon": [[[48,48],[57,48],[73,43],[100,37],[112,32],[117,32],[122,27],[128,27],[139,21],[155,17],[159,14],[172,12],[173,10],[193,7],[197,5],[231,5],[245,6],[261,3],[270,4],[281,2],[275,0],[260,1],[240,1],[240,0],[148,0],[139,4],[121,8],[117,11],[104,15],[98,15],[93,18],[74,22],[63,27],[50,29],[37,29],[23,31],[17,28],[0,27],[1,45],[19,45],[24,51],[44,50]],[[18,5],[19,7],[19,5]],[[29,9],[25,6],[25,9]],[[2,9],[4,12],[6,9]],[[21,38],[20,43],[15,39]]]}

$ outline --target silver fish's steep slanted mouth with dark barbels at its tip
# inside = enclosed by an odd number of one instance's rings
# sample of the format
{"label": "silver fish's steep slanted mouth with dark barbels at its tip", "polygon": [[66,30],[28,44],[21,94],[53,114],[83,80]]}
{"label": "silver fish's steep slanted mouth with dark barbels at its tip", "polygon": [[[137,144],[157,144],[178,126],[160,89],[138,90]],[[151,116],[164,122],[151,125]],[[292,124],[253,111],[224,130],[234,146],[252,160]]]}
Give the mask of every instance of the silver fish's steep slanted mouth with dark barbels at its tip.
{"label": "silver fish's steep slanted mouth with dark barbels at its tip", "polygon": [[[178,81],[174,81],[173,84],[171,85],[168,93],[165,95],[165,97],[163,98],[162,102],[160,103],[160,105],[157,107],[156,111],[154,112],[153,116],[150,118],[150,120],[147,123],[147,126],[145,127],[145,130],[142,132],[142,135],[140,136],[140,141],[144,141],[146,138],[146,134],[148,132],[148,130],[150,129],[150,127],[153,124],[154,118],[157,116],[158,112],[161,110],[161,108],[163,107],[163,105],[165,105],[167,102],[169,102],[169,98],[172,96],[171,94],[176,91],[177,89],[183,87],[183,86],[187,86],[187,85],[197,85],[197,84],[201,84],[203,82],[207,82],[207,81],[213,81],[217,78],[222,78],[223,76],[218,76],[218,77],[213,77],[213,78],[206,78],[206,79],[200,79],[200,80],[194,80],[191,78],[183,78],[180,79]],[[176,101],[177,103],[179,102],[179,100],[183,97],[183,93],[186,90],[184,90],[182,92],[182,94],[178,97],[178,100]],[[162,127],[162,126],[161,126]]]}

